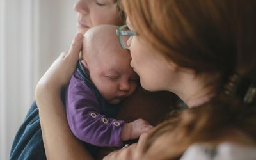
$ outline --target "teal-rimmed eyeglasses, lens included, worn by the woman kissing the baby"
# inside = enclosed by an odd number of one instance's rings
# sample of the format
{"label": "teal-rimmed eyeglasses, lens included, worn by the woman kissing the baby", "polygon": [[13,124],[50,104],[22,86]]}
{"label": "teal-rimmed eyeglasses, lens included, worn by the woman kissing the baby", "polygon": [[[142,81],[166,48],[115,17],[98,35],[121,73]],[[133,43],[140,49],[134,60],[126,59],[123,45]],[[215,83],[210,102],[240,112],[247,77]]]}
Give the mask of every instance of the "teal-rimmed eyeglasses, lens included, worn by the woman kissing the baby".
{"label": "teal-rimmed eyeglasses, lens included, worn by the woman kissing the baby", "polygon": [[[132,42],[132,36],[137,35],[136,31],[131,31],[127,24],[120,26],[116,29],[116,35],[118,36],[118,40],[120,42],[120,45],[122,46],[123,49],[127,49],[131,46],[131,42]],[[129,36],[129,38],[131,37],[131,40],[127,40],[127,37]]]}

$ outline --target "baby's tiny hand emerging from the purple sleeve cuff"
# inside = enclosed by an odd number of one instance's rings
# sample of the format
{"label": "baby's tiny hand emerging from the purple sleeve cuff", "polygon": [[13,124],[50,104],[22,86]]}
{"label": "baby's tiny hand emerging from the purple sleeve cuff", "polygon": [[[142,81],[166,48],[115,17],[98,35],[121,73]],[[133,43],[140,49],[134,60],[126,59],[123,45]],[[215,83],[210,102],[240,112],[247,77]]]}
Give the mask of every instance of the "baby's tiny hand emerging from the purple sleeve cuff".
{"label": "baby's tiny hand emerging from the purple sleeve cuff", "polygon": [[121,133],[121,140],[127,141],[139,138],[140,134],[150,131],[152,127],[152,125],[143,119],[134,120],[131,123],[125,123]]}

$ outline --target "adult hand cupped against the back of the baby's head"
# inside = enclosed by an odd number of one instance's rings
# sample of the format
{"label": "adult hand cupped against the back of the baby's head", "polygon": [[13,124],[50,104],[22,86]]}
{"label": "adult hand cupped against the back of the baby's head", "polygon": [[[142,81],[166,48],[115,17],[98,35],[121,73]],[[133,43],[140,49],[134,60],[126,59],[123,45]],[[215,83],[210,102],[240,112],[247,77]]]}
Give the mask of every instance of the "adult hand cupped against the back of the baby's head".
{"label": "adult hand cupped against the back of the baby's head", "polygon": [[[61,88],[66,86],[76,69],[79,52],[82,48],[83,35],[77,33],[68,52],[63,52],[52,63],[36,85],[36,102],[49,100],[53,95],[60,95]],[[54,96],[55,97],[55,96]]]}

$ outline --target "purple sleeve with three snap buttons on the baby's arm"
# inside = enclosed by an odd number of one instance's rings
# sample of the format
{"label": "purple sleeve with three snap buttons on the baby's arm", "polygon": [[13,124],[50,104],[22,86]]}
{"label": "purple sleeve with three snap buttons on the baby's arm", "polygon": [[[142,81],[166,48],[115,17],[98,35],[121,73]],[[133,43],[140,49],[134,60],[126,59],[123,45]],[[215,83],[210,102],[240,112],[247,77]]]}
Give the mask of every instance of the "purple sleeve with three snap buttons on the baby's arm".
{"label": "purple sleeve with three snap buttons on the baby's arm", "polygon": [[66,91],[66,111],[70,129],[79,140],[99,147],[123,145],[124,121],[100,114],[95,94],[74,75]]}

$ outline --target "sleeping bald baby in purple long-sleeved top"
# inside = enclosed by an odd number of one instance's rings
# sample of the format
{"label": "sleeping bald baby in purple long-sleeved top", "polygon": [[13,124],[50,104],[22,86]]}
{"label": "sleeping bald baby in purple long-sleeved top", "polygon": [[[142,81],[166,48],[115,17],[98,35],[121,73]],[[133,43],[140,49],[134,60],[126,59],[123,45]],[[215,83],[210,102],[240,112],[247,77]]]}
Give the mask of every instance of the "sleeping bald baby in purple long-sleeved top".
{"label": "sleeping bald baby in purple long-sleeved top", "polygon": [[97,147],[122,147],[122,141],[138,138],[152,125],[138,119],[116,120],[118,103],[129,97],[138,84],[130,66],[131,55],[122,49],[116,26],[101,25],[84,35],[82,59],[66,91],[70,129],[80,140]]}

